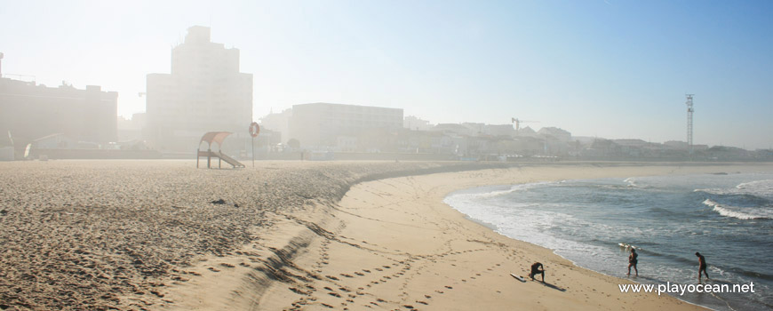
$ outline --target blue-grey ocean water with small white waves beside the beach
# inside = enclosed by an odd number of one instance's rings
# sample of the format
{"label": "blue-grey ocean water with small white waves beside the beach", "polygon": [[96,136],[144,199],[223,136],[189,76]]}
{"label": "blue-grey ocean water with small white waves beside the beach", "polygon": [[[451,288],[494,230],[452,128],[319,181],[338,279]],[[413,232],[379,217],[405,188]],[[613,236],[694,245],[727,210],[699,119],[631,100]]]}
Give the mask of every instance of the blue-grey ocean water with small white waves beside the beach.
{"label": "blue-grey ocean water with small white waves beside the beach", "polygon": [[[580,267],[638,283],[754,283],[754,293],[679,299],[717,310],[773,308],[773,173],[578,179],[466,189],[445,202],[498,233],[552,249]],[[633,271],[632,271],[633,273]],[[704,283],[705,277],[704,277]],[[732,285],[730,285],[732,286]]]}

